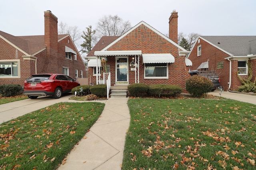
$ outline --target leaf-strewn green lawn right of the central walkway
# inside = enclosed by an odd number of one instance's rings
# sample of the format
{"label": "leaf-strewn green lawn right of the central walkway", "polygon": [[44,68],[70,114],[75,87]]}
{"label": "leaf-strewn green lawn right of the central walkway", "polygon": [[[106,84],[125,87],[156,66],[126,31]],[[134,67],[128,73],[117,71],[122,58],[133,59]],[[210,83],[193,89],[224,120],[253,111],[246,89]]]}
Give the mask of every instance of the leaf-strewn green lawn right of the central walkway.
{"label": "leaf-strewn green lawn right of the central walkway", "polygon": [[254,170],[256,106],[235,100],[129,99],[123,170]]}

